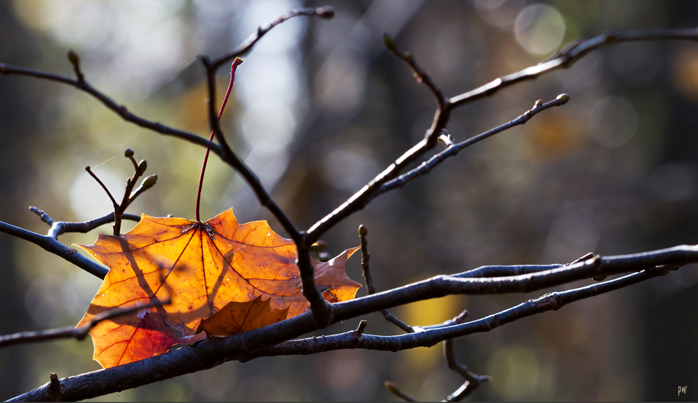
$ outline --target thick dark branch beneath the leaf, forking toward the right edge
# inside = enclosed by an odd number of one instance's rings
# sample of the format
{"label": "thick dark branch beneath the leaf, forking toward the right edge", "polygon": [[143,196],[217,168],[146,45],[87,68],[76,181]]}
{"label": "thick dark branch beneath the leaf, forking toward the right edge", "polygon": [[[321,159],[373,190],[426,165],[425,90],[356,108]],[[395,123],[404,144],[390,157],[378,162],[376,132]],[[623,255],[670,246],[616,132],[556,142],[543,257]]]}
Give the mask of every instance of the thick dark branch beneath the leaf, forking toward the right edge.
{"label": "thick dark branch beneath the leaf, forking toward the right edge", "polygon": [[[676,268],[677,265],[698,262],[698,251],[696,249],[696,247],[675,247],[645,254],[593,258],[592,261],[596,263],[591,263],[589,261],[575,263],[574,265],[570,265],[569,268],[584,268],[587,265],[591,265],[597,268],[606,266],[606,268],[614,269],[609,270],[611,272],[616,272],[617,270],[621,270],[621,268],[624,270],[646,268],[646,270],[621,277],[620,279],[604,281],[599,284],[593,284],[571,291],[547,294],[541,298],[529,300],[517,307],[507,309],[506,311],[487,316],[477,321],[463,323],[462,325],[429,329],[422,332],[408,333],[406,335],[372,336],[364,334],[357,336],[355,332],[347,332],[339,335],[312,337],[310,339],[288,342],[287,340],[318,329],[315,321],[313,321],[311,313],[306,312],[294,318],[287,319],[286,321],[244,332],[239,335],[230,337],[209,337],[191,347],[172,351],[161,356],[62,379],[61,383],[64,385],[64,389],[61,398],[64,400],[82,400],[89,397],[105,395],[107,393],[114,393],[119,390],[135,388],[147,383],[208,369],[228,360],[249,360],[260,356],[313,354],[336,349],[358,348],[400,351],[403,349],[413,349],[419,346],[433,346],[447,339],[453,339],[454,337],[461,337],[475,332],[487,332],[493,328],[497,328],[498,326],[526,316],[546,312],[551,309],[560,309],[563,305],[576,300],[607,293],[630,284],[635,284],[639,281],[667,274],[669,270]],[[662,266],[654,268],[653,266],[655,265]],[[516,284],[519,281],[530,281],[526,279],[531,276],[540,276],[542,273],[547,273],[548,276],[555,277],[557,276],[557,274],[555,274],[556,270],[566,269],[567,268],[559,268],[547,272],[525,274],[517,277],[499,277],[498,279],[489,280],[499,280],[510,284]],[[488,279],[459,280],[481,282]],[[534,283],[540,287],[551,285],[543,284],[542,281],[534,281]],[[406,300],[414,302],[416,300],[441,296],[431,293],[431,291],[424,291],[419,284],[420,283],[417,283],[384,293],[357,298],[357,300],[334,304],[335,308],[341,305],[341,312],[343,313],[341,316],[334,316],[334,321],[376,312],[383,308],[406,303],[403,302]],[[439,285],[435,286],[440,287]],[[441,286],[443,286],[443,284]],[[521,291],[520,285],[510,288],[512,288],[512,291]],[[500,291],[502,291],[502,288],[500,288]],[[407,293],[412,293],[413,296],[418,294],[419,297],[402,298],[400,296]],[[366,301],[371,303],[366,304]],[[15,400],[45,400],[45,393],[47,393],[47,385],[31,390],[24,395],[17,396]]]}

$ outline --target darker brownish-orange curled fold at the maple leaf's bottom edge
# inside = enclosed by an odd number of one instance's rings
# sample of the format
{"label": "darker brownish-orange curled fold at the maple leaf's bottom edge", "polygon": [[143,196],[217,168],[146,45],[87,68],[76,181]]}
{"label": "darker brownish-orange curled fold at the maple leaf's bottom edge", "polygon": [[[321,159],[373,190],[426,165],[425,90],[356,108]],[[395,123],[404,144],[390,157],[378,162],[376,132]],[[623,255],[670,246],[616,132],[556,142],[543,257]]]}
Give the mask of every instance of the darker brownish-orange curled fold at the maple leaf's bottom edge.
{"label": "darker brownish-orange curled fold at the maple leaf's bottom edge", "polygon": [[288,316],[288,308],[272,308],[269,300],[259,296],[248,302],[228,302],[223,309],[205,318],[198,332],[208,336],[229,336],[272,325]]}

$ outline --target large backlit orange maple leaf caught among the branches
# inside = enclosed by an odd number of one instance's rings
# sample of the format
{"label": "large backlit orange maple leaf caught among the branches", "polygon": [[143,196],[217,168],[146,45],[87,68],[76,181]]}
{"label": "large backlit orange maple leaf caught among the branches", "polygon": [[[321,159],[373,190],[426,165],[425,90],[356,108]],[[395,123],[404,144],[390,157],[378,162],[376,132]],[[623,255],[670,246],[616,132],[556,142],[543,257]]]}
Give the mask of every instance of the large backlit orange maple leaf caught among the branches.
{"label": "large backlit orange maple leaf caught among the branches", "polygon": [[[205,223],[143,214],[124,235],[101,234],[92,245],[76,246],[110,268],[78,326],[113,307],[172,300],[140,314],[103,321],[91,330],[94,359],[105,368],[205,337],[197,332],[201,320],[229,302],[263,297],[270,308],[287,309],[289,318],[309,308],[293,241],[274,233],[266,221],[238,224],[232,209]],[[350,300],[361,287],[344,270],[357,249],[329,262],[312,261],[315,284],[331,291],[331,302]]]}

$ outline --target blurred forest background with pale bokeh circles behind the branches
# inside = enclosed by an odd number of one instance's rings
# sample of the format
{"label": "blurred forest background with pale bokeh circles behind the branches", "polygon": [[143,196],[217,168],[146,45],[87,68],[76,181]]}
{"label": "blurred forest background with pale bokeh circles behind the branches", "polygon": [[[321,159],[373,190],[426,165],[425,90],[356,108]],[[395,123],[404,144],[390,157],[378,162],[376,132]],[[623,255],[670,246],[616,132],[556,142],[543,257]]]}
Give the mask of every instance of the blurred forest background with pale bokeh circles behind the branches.
{"label": "blurred forest background with pale bokeh circles behind the branches", "polygon": [[[229,50],[285,10],[325,4],[334,6],[334,20],[285,22],[244,58],[223,117],[234,149],[302,228],[429,128],[433,98],[384,49],[384,31],[454,96],[604,29],[698,27],[698,3],[689,1],[15,0],[0,2],[0,61],[72,76],[66,52],[73,49],[87,80],[117,103],[208,135],[205,83],[194,57]],[[221,68],[218,76],[219,102],[228,72]],[[464,140],[561,92],[572,99],[563,108],[461,152],[344,221],[324,238],[329,251],[356,246],[357,226],[367,226],[371,270],[384,290],[480,265],[567,263],[589,251],[697,244],[698,45],[635,43],[593,52],[572,68],[456,110],[450,133]],[[84,167],[107,161],[94,172],[117,194],[132,170],[122,156],[126,147],[147,159],[148,174],[159,175],[128,211],[194,216],[204,149],[126,124],[71,87],[0,77],[0,138],[1,221],[45,233],[29,205],[62,221],[110,212]],[[284,235],[215,156],[202,201],[202,218],[234,206],[241,222],[269,219]],[[91,244],[96,233],[59,240]],[[0,252],[2,334],[77,323],[101,283],[8,235],[0,235]],[[348,274],[363,281],[359,260],[350,259]],[[695,268],[683,268],[459,339],[456,356],[493,376],[472,400],[672,400],[676,386],[686,385],[695,399],[697,283]],[[426,325],[465,308],[480,318],[542,293],[442,298],[393,312]],[[399,332],[380,314],[367,319],[367,332]],[[98,369],[91,356],[89,341],[2,349],[0,397],[39,386],[50,372]],[[394,400],[386,380],[425,400],[440,400],[461,383],[439,345],[228,362],[103,399]]]}

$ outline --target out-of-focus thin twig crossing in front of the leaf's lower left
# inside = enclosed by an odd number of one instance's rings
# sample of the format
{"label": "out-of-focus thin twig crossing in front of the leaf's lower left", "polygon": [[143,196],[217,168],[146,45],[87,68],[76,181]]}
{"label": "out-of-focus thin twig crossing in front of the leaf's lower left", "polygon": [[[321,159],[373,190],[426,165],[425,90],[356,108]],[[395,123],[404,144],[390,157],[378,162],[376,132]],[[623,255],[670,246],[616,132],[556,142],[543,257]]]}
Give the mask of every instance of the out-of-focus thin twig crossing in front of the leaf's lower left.
{"label": "out-of-focus thin twig crossing in front of the leaf's lower left", "polygon": [[50,330],[39,330],[37,332],[20,332],[13,335],[0,336],[0,348],[6,346],[12,346],[14,344],[27,344],[35,342],[45,342],[47,340],[54,339],[76,339],[83,340],[89,334],[96,325],[107,319],[117,318],[119,316],[124,316],[127,314],[132,314],[133,312],[138,312],[142,309],[149,307],[157,307],[160,305],[168,305],[170,301],[164,302],[153,302],[148,305],[139,305],[137,307],[116,307],[109,309],[108,311],[102,312],[96,315],[91,321],[85,323],[84,325],[75,328],[74,326],[68,326],[66,328],[50,329]]}

